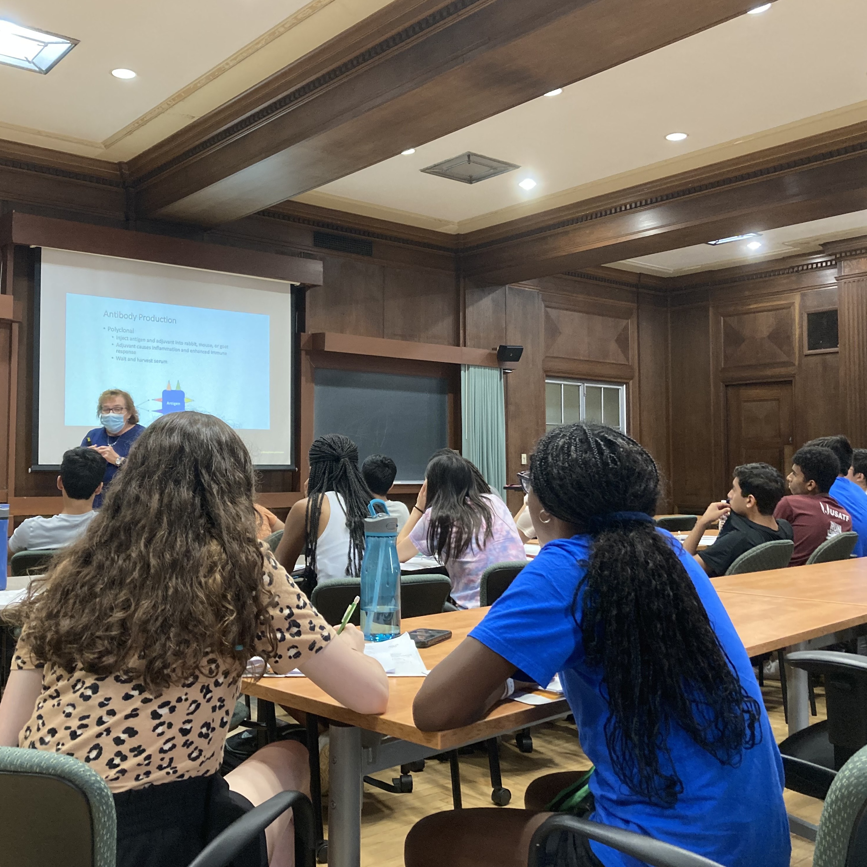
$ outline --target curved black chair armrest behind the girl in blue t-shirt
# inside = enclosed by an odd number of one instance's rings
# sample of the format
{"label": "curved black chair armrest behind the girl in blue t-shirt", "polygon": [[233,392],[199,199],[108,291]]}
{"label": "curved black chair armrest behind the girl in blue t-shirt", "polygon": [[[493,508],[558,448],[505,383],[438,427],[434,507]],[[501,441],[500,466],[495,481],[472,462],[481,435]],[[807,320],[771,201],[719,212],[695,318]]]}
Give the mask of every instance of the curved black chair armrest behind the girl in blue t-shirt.
{"label": "curved black chair armrest behind the girl in blue t-shirt", "polygon": [[624,831],[623,828],[589,822],[568,813],[555,813],[538,826],[530,841],[527,867],[540,867],[541,864],[548,863],[544,857],[545,845],[552,834],[560,831],[595,840],[596,843],[610,846],[611,849],[623,852],[642,864],[650,864],[651,867],[720,867],[715,861],[695,855],[679,846],[662,843],[662,840],[645,837],[633,831]]}

